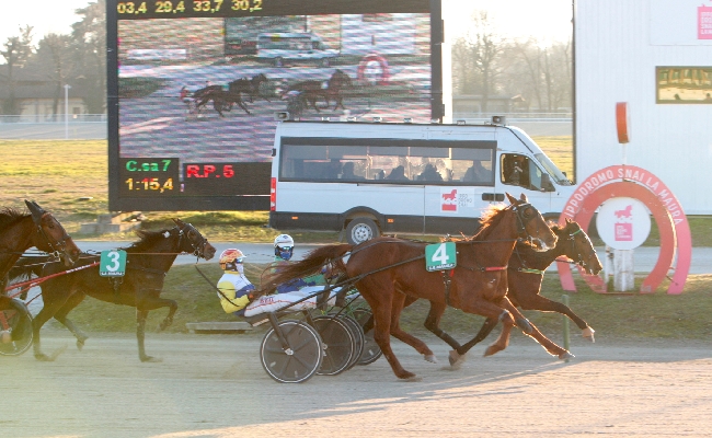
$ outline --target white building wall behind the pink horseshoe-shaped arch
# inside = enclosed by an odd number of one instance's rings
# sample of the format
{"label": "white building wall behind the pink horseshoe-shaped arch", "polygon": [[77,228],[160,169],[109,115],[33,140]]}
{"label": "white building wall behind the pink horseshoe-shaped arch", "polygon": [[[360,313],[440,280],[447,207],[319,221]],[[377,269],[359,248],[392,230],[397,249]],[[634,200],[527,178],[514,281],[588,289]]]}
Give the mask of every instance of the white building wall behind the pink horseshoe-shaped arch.
{"label": "white building wall behind the pink horseshoe-shaped arch", "polygon": [[628,102],[625,163],[657,175],[688,215],[712,215],[712,104],[656,103],[656,67],[712,68],[698,8],[712,0],[576,0],[576,175],[623,162],[616,103]]}

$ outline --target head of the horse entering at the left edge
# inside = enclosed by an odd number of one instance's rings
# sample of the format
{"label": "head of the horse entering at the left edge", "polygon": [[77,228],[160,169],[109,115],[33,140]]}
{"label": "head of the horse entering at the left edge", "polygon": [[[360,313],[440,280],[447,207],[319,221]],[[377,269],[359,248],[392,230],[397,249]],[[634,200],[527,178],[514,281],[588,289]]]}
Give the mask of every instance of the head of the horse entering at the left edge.
{"label": "head of the horse entering at the left edge", "polygon": [[33,245],[41,251],[59,256],[66,266],[72,266],[79,260],[81,250],[67,234],[61,223],[34,200],[25,199],[25,205],[37,227],[37,232],[33,234],[32,239]]}

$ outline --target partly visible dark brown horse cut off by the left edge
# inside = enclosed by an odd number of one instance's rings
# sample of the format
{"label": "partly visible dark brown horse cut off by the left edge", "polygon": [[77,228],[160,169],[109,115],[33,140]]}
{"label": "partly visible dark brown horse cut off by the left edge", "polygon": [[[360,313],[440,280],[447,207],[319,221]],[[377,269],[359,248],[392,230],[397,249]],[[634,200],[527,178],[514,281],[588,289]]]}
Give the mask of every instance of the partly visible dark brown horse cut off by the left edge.
{"label": "partly visible dark brown horse cut off by the left edge", "polygon": [[[4,295],[7,275],[26,250],[34,246],[50,253],[53,260],[61,258],[66,266],[73,265],[81,253],[51,214],[35,201],[25,200],[25,205],[30,209],[28,215],[14,208],[0,209],[0,311],[15,309],[26,312],[24,304]],[[14,333],[22,336],[24,332],[25,327],[14,327],[13,341]]]}

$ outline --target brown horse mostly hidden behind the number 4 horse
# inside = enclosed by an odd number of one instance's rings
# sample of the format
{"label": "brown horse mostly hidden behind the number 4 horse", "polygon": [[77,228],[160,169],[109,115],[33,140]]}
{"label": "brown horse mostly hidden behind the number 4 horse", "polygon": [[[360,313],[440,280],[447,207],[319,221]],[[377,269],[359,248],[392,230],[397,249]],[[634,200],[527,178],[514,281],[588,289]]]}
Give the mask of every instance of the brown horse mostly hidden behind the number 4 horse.
{"label": "brown horse mostly hidden behind the number 4 horse", "polygon": [[[563,227],[553,226],[551,229],[556,234],[558,240],[556,245],[549,251],[537,252],[522,243],[517,243],[515,246],[508,264],[507,297],[514,306],[524,310],[540,310],[543,312],[565,314],[583,331],[584,337],[588,337],[593,342],[595,332],[586,321],[578,318],[567,306],[542,297],[539,292],[541,291],[544,270],[560,256],[566,256],[573,260],[589,275],[597,275],[602,269],[602,266],[590,239],[588,239],[588,235],[577,222],[566,219]],[[415,301],[416,299],[414,297],[407,297],[404,306],[407,307]],[[464,345],[460,345],[439,327],[440,318],[445,309],[446,307],[444,304],[432,301],[430,311],[424,325],[428,331],[453,348],[449,354],[449,360],[450,365],[457,366],[463,360],[464,355],[470,348],[483,341],[492,332],[497,324],[497,320],[492,318],[487,319],[474,338]],[[367,330],[367,327],[365,328]],[[558,356],[560,359],[572,357],[566,349],[551,342],[537,330],[530,336],[537,339],[552,356]],[[494,353],[497,351],[487,349],[485,356]]]}

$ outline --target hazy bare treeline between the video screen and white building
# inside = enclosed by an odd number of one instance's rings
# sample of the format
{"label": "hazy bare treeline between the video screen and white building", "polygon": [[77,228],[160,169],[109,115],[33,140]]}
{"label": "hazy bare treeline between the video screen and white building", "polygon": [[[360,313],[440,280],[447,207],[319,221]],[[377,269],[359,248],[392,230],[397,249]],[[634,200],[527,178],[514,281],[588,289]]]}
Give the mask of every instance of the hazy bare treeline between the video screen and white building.
{"label": "hazy bare treeline between the video screen and white building", "polygon": [[493,97],[520,96],[521,111],[555,112],[572,106],[572,42],[507,38],[486,11],[452,45],[455,95],[481,96],[487,112]]}

